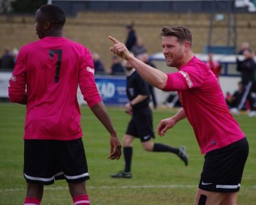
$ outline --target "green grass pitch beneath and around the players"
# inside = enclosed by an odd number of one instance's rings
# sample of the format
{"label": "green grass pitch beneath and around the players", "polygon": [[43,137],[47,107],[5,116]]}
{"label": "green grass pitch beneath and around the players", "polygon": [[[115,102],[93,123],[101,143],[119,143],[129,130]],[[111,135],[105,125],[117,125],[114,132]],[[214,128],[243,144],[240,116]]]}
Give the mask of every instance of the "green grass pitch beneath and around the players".
{"label": "green grass pitch beneath and around the players", "polygon": [[[194,132],[187,120],[176,124],[165,137],[154,141],[171,146],[185,146],[189,166],[174,154],[145,152],[139,139],[135,140],[132,159],[132,179],[113,179],[113,174],[124,168],[119,161],[107,159],[109,135],[88,107],[81,107],[84,145],[91,180],[86,182],[93,205],[193,204],[203,156]],[[121,140],[130,116],[121,108],[108,108],[110,118]],[[175,111],[154,111],[154,129],[159,120]],[[237,204],[256,204],[256,118],[235,116],[250,143],[250,154],[244,169],[242,187]],[[0,104],[0,204],[22,204],[26,192],[23,179],[23,126],[25,107],[10,103]],[[235,170],[234,170],[235,172]],[[45,186],[42,203],[72,204],[67,183],[56,181]]]}

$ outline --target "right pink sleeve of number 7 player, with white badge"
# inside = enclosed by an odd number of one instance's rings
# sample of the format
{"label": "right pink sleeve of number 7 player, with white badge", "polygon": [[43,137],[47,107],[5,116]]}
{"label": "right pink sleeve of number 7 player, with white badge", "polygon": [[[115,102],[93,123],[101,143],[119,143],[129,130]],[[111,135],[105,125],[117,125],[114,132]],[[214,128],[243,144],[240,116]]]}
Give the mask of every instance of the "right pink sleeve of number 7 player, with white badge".
{"label": "right pink sleeve of number 7 player, with white badge", "polygon": [[79,86],[89,107],[93,107],[102,100],[95,83],[93,59],[88,49],[84,49],[82,55],[82,63],[79,68]]}

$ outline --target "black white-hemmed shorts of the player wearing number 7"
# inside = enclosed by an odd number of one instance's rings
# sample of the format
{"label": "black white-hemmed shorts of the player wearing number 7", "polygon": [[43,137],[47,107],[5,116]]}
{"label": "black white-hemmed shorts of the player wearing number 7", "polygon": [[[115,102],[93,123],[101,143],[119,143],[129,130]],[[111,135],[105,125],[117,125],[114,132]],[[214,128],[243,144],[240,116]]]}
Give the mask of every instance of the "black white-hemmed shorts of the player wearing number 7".
{"label": "black white-hemmed shorts of the player wearing number 7", "polygon": [[27,182],[53,184],[54,180],[89,179],[82,138],[70,141],[25,139],[24,176]]}

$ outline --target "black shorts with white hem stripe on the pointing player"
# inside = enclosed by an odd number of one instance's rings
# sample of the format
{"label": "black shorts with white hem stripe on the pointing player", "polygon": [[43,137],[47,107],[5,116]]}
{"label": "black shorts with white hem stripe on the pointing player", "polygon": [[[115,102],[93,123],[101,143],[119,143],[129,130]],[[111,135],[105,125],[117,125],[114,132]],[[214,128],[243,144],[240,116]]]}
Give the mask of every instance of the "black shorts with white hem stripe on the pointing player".
{"label": "black shorts with white hem stripe on the pointing player", "polygon": [[248,141],[244,137],[229,146],[205,154],[198,187],[222,193],[239,191],[248,150]]}

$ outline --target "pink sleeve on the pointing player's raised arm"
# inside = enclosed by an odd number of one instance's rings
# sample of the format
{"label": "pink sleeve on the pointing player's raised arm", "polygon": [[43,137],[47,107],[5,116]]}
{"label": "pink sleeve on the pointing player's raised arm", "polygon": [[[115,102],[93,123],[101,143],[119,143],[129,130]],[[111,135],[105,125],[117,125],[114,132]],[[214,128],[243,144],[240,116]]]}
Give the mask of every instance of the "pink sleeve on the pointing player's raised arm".
{"label": "pink sleeve on the pointing player's raised arm", "polygon": [[189,90],[200,87],[203,82],[199,66],[187,66],[178,72],[168,73],[165,91]]}

